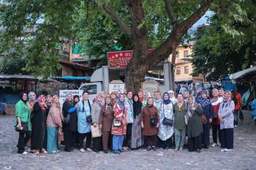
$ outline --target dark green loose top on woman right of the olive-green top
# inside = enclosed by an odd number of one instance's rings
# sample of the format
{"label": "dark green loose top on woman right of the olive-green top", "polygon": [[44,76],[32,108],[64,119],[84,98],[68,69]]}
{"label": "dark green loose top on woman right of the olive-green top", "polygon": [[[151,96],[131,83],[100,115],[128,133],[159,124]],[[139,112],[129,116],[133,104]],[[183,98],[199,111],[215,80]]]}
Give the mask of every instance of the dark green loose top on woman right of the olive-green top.
{"label": "dark green loose top on woman right of the olive-green top", "polygon": [[203,109],[200,106],[197,106],[195,109],[195,114],[192,117],[189,117],[187,120],[187,136],[189,138],[197,137],[203,133],[203,123],[200,115],[203,114]]}

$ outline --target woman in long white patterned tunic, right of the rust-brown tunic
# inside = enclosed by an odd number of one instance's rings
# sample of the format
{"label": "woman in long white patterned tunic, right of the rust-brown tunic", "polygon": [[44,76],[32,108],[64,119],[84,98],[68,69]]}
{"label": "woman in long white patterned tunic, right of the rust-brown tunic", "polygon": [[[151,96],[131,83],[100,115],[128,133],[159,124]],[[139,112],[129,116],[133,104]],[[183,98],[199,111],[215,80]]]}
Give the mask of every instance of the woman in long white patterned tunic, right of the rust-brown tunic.
{"label": "woman in long white patterned tunic, right of the rust-brown tunic", "polygon": [[164,93],[162,97],[162,106],[159,112],[159,143],[163,149],[170,149],[171,138],[173,136],[174,130],[173,125],[165,124],[164,119],[173,120],[173,103],[170,101],[170,96],[168,93]]}

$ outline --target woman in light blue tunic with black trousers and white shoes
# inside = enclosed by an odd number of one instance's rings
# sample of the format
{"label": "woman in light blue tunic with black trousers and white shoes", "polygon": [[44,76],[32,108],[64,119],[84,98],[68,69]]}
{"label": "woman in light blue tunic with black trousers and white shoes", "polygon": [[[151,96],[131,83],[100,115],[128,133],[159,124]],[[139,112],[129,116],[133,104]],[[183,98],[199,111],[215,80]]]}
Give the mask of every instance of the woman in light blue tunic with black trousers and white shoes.
{"label": "woman in light blue tunic with black trousers and white shoes", "polygon": [[89,101],[89,94],[83,92],[83,100],[79,101],[77,106],[78,112],[78,138],[79,150],[85,152],[83,148],[83,141],[86,139],[85,149],[91,151],[91,104]]}

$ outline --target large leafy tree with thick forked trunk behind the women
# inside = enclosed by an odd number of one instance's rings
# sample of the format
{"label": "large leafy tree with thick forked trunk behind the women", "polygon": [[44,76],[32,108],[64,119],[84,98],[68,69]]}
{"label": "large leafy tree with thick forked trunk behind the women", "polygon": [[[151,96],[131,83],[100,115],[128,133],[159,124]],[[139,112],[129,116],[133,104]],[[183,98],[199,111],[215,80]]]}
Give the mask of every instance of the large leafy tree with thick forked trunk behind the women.
{"label": "large leafy tree with thick forked trunk behind the women", "polygon": [[[3,9],[4,20],[1,23],[6,28],[0,39],[4,43],[2,49],[7,50],[6,47],[10,48],[13,42],[21,41],[17,37],[23,35],[24,27],[31,28],[39,18],[43,20],[37,27],[35,38],[26,39],[28,42],[23,52],[26,58],[29,58],[26,69],[33,69],[37,74],[50,74],[52,69],[56,69],[53,61],[58,57],[54,48],[56,42],[59,42],[59,36],[81,40],[84,37],[85,42],[97,47],[96,54],[108,50],[109,46],[112,46],[111,42],[118,40],[118,44],[124,48],[134,50],[134,56],[126,69],[125,81],[129,90],[140,88],[140,82],[143,81],[146,72],[167,59],[173,50],[175,51],[188,29],[213,4],[212,0],[8,0],[7,2],[7,6]],[[220,13],[228,10],[226,18],[236,15],[236,18],[241,19],[244,14],[239,13],[234,7],[240,7],[242,3],[240,0],[214,1],[211,10]],[[229,6],[226,7],[225,4]],[[97,29],[102,23],[105,28]],[[94,34],[94,31],[99,31],[101,34]],[[89,39],[93,40],[89,41]],[[108,41],[102,43],[105,40]],[[100,47],[101,45],[108,47]],[[154,51],[150,54],[146,53],[148,47],[154,47]],[[88,49],[89,52],[92,51],[90,47]],[[172,61],[175,61],[174,58]]]}

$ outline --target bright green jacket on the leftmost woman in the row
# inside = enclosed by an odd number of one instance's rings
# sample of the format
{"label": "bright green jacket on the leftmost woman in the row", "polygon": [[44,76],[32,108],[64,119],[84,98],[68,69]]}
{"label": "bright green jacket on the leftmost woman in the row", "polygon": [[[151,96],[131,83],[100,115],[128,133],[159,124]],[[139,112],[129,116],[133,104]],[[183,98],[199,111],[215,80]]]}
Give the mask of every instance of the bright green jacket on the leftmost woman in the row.
{"label": "bright green jacket on the leftmost woman in the row", "polygon": [[[21,122],[28,122],[29,131],[31,131],[30,113],[29,107],[23,101],[20,100],[15,105],[15,117],[20,117]],[[15,125],[17,124],[18,120],[16,119]]]}

